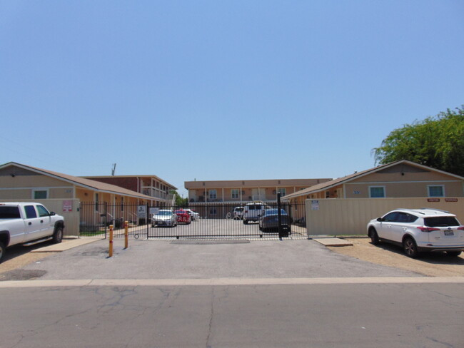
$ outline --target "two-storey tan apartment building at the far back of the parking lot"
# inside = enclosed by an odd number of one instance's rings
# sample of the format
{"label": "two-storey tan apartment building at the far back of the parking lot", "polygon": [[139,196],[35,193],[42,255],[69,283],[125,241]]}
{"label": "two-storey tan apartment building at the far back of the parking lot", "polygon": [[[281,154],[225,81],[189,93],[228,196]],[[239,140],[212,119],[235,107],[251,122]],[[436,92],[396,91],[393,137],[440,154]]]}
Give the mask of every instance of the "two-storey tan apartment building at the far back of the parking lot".
{"label": "two-storey tan apartment building at the far back of the parking lot", "polygon": [[281,179],[281,180],[215,180],[186,181],[189,205],[205,203],[247,203],[253,200],[275,202],[277,194],[281,197],[296,193],[319,183],[331,180],[319,179]]}

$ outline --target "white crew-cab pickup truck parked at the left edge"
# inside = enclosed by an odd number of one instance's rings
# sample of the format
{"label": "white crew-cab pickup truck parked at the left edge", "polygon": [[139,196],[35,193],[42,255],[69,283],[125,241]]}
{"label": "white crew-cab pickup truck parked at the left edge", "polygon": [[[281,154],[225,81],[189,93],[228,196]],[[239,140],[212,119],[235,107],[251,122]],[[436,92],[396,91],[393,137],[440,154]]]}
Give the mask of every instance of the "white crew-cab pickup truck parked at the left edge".
{"label": "white crew-cab pickup truck parked at the left edge", "polygon": [[39,203],[0,203],[0,262],[6,247],[63,239],[64,219]]}

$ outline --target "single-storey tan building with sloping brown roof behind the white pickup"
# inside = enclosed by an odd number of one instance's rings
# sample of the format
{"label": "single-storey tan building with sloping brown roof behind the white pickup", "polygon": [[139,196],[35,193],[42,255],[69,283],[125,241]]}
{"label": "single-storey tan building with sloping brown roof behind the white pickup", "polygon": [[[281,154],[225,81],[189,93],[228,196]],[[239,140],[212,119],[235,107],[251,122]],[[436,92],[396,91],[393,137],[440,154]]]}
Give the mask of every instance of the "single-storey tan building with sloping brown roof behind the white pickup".
{"label": "single-storey tan building with sloping brown roof behind the white pickup", "polygon": [[80,224],[138,220],[137,206],[159,201],[120,186],[79,178],[20,163],[0,165],[0,201],[39,201],[64,215],[66,235],[79,235]]}

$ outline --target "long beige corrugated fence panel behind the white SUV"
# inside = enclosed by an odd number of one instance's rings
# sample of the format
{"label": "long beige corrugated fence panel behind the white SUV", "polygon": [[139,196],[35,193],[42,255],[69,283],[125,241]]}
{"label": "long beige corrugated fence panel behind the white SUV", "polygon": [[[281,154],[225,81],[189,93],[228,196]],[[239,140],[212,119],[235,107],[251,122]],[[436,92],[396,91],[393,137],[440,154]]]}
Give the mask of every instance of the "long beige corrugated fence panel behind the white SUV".
{"label": "long beige corrugated fence panel behind the white SUV", "polygon": [[[452,200],[452,201],[450,201]],[[364,235],[365,226],[396,208],[434,208],[448,210],[464,223],[464,198],[349,198],[306,200],[308,235]]]}

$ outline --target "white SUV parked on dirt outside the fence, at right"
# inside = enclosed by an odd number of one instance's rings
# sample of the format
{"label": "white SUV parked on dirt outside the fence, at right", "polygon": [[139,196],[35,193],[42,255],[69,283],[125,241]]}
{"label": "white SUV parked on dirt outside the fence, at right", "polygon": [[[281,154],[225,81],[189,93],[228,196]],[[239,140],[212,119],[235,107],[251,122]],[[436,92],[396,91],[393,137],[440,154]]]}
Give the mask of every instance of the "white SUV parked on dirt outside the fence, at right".
{"label": "white SUV parked on dirt outside the fence, at right", "polygon": [[420,252],[458,256],[464,250],[464,226],[456,215],[444,210],[395,209],[368,222],[367,230],[372,244],[401,245],[409,257]]}

